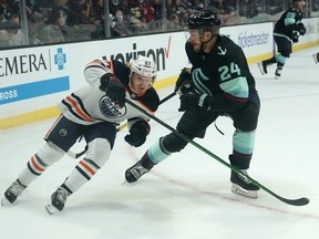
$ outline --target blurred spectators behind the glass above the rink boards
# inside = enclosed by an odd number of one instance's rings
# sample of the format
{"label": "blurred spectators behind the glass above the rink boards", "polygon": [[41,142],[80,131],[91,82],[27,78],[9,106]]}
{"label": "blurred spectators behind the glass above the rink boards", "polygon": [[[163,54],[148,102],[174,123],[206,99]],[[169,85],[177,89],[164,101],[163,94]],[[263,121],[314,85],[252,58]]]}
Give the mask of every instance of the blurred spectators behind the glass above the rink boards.
{"label": "blurred spectators behind the glass above the rink boards", "polygon": [[[22,1],[0,0],[0,48],[181,31],[188,15],[204,8],[217,12],[224,25],[276,21],[289,7],[286,0]],[[319,12],[319,0],[309,1],[311,12]]]}

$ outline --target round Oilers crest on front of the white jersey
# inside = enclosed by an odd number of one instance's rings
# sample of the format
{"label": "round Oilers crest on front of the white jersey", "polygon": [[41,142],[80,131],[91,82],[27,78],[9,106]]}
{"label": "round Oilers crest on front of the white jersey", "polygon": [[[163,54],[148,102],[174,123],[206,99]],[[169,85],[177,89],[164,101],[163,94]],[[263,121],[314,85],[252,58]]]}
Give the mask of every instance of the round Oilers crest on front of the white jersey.
{"label": "round Oilers crest on front of the white jersey", "polygon": [[126,114],[126,106],[120,108],[114,102],[112,102],[106,95],[101,97],[99,102],[99,107],[101,113],[105,117],[121,117],[122,115]]}

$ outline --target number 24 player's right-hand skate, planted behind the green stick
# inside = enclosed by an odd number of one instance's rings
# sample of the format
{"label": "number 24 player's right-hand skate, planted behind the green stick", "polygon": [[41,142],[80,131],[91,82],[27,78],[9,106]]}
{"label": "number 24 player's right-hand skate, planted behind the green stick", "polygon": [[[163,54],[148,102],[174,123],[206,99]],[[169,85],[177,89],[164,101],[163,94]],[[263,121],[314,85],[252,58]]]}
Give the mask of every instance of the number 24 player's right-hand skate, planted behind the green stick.
{"label": "number 24 player's right-hand skate, planted behind the green stick", "polygon": [[237,174],[231,170],[230,181],[233,183],[231,191],[244,197],[257,198],[257,190],[259,187],[254,185],[245,175],[247,170],[240,169],[243,174]]}

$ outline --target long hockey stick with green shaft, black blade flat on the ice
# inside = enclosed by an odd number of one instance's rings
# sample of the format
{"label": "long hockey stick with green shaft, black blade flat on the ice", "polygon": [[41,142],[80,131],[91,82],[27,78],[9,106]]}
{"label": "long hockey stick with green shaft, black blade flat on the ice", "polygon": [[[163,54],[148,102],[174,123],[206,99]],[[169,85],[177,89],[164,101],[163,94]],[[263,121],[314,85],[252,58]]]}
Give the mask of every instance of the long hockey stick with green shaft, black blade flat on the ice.
{"label": "long hockey stick with green shaft, black blade flat on the ice", "polygon": [[157,118],[156,116],[150,114],[148,112],[146,112],[144,108],[140,107],[138,105],[135,105],[133,102],[131,102],[130,100],[125,100],[127,104],[130,104],[131,106],[135,107],[136,110],[138,110],[140,112],[142,112],[143,114],[147,115],[150,118],[154,119],[155,122],[157,122],[158,124],[161,124],[162,126],[166,127],[167,129],[169,129],[171,132],[173,132],[174,134],[176,134],[177,136],[179,136],[181,138],[183,138],[184,141],[188,142],[189,144],[192,144],[193,146],[197,147],[199,150],[204,152],[205,154],[209,155],[210,157],[215,158],[216,160],[218,160],[219,163],[222,163],[223,165],[225,165],[226,167],[230,168],[233,172],[240,174],[244,177],[247,177],[249,180],[253,181],[254,185],[258,186],[259,188],[261,188],[263,190],[265,190],[266,193],[270,194],[271,196],[274,196],[275,198],[281,200],[285,204],[288,205],[292,205],[292,206],[303,206],[309,204],[309,198],[302,197],[302,198],[298,198],[298,199],[288,199],[288,198],[284,198],[280,197],[279,195],[275,194],[274,191],[271,191],[270,189],[268,189],[267,187],[265,187],[264,185],[259,184],[258,181],[256,181],[255,179],[253,179],[251,177],[249,177],[248,175],[243,174],[240,170],[238,170],[236,167],[231,166],[230,164],[226,163],[225,160],[223,160],[220,157],[218,157],[217,155],[213,154],[212,152],[209,152],[208,149],[206,149],[205,147],[203,147],[202,145],[197,144],[196,142],[192,141],[191,138],[188,138],[187,136],[185,136],[184,134],[179,133],[178,131],[176,131],[175,128],[173,128],[172,126],[169,126],[168,124],[166,124],[165,122],[161,121],[160,118]]}

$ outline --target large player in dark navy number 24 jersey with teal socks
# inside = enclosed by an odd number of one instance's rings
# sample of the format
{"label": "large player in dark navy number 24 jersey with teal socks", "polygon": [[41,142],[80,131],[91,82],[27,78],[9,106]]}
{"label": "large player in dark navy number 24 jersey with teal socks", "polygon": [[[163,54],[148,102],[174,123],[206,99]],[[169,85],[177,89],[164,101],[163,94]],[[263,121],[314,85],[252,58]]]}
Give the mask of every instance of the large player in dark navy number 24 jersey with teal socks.
{"label": "large player in dark navy number 24 jersey with teal socks", "polygon": [[[182,71],[175,91],[182,92],[176,129],[189,139],[204,137],[206,128],[218,116],[229,116],[235,126],[230,164],[243,174],[231,172],[231,191],[257,198],[259,187],[247,177],[254,152],[259,115],[259,97],[246,56],[229,38],[219,34],[220,18],[209,10],[193,13],[187,28],[185,49],[192,71]],[[185,86],[191,84],[191,91]],[[161,137],[141,160],[125,172],[128,183],[138,180],[171,154],[181,152],[187,142],[171,133]],[[181,166],[183,168],[183,166]]]}

